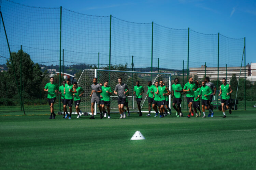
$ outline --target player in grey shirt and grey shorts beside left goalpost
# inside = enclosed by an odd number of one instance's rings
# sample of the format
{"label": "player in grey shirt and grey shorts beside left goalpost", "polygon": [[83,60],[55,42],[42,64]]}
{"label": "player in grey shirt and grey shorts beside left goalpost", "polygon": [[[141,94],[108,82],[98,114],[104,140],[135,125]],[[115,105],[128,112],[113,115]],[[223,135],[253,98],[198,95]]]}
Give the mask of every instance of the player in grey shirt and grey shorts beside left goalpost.
{"label": "player in grey shirt and grey shorts beside left goalpost", "polygon": [[97,78],[93,78],[93,84],[91,85],[91,117],[90,119],[95,119],[94,117],[94,105],[97,102],[99,111],[100,111],[100,118],[102,119],[102,112],[100,107],[100,93],[102,93],[101,85],[97,83]]}

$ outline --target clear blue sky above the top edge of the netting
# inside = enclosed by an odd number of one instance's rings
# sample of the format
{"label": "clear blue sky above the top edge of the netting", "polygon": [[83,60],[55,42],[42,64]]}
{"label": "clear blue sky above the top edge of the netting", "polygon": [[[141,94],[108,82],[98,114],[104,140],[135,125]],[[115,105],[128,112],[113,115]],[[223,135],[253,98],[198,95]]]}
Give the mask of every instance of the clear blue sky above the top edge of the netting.
{"label": "clear blue sky above the top edge of the netting", "polygon": [[246,37],[246,63],[256,63],[256,1],[247,0],[13,0],[30,6],[59,7],[71,11],[112,16],[131,22],[154,21],[161,26],[205,34]]}

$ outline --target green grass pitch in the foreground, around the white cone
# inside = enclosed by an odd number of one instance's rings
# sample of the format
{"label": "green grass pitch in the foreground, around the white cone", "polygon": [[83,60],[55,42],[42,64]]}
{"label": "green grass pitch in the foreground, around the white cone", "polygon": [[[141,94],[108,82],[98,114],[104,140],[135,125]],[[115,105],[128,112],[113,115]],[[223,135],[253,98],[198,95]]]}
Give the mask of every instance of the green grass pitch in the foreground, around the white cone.
{"label": "green grass pitch in the foreground, around the white cone", "polygon": [[[256,109],[227,118],[215,112],[212,118],[49,120],[46,113],[0,115],[1,170],[256,168]],[[146,139],[130,140],[136,131]]]}

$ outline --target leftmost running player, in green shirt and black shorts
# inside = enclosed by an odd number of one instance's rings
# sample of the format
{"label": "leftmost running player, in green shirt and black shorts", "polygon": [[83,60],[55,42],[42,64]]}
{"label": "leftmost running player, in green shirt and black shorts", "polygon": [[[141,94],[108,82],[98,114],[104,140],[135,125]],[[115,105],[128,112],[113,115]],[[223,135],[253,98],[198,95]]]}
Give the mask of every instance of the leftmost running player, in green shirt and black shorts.
{"label": "leftmost running player, in green shirt and black shorts", "polygon": [[55,119],[56,114],[54,113],[54,102],[56,100],[56,93],[58,91],[59,85],[54,83],[54,77],[50,77],[50,82],[44,87],[44,91],[47,91],[47,100],[50,105],[51,116],[49,119]]}

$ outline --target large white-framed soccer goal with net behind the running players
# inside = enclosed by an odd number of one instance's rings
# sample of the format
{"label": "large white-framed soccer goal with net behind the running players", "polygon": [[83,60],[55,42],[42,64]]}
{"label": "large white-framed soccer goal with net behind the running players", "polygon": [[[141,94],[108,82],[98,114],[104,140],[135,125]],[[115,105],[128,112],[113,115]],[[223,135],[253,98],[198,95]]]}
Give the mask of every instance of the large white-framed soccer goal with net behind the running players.
{"label": "large white-framed soccer goal with net behind the running players", "polygon": [[[82,87],[85,91],[81,98],[80,108],[82,112],[87,112],[91,114],[91,84],[93,84],[93,78],[96,77],[98,79],[98,83],[102,83],[104,81],[109,82],[109,86],[111,87],[113,93],[111,95],[111,104],[110,104],[110,112],[111,113],[119,113],[118,112],[118,104],[117,104],[117,95],[114,94],[115,86],[118,84],[118,78],[121,77],[123,83],[126,83],[129,88],[128,95],[128,107],[130,109],[130,113],[138,112],[138,106],[136,103],[136,96],[133,95],[133,87],[136,85],[136,81],[140,81],[140,85],[144,87],[145,92],[142,94],[142,102],[141,102],[141,110],[142,112],[148,112],[148,101],[147,101],[147,82],[152,81],[154,84],[156,81],[162,80],[165,83],[165,86],[171,90],[171,74],[170,73],[155,73],[155,72],[138,72],[138,71],[118,71],[118,70],[103,70],[103,69],[94,69],[94,70],[83,70],[79,80],[77,81],[77,85]],[[103,84],[104,85],[104,84]],[[169,95],[169,101],[171,101],[171,96]],[[171,102],[169,102],[169,107],[171,108]],[[126,107],[125,107],[126,109]],[[99,113],[99,109],[95,104],[95,113],[96,115]],[[154,113],[152,111],[152,113]]]}

